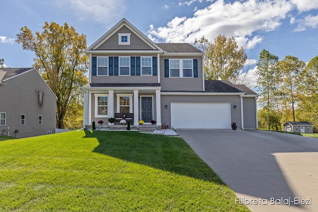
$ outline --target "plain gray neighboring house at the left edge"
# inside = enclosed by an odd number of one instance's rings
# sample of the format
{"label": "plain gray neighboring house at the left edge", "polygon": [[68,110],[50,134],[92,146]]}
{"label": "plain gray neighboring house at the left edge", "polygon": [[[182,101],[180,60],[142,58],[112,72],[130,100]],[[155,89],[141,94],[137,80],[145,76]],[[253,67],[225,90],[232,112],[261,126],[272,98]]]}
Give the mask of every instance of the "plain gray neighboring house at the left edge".
{"label": "plain gray neighboring house at the left edge", "polygon": [[0,135],[55,133],[56,96],[34,68],[0,68]]}

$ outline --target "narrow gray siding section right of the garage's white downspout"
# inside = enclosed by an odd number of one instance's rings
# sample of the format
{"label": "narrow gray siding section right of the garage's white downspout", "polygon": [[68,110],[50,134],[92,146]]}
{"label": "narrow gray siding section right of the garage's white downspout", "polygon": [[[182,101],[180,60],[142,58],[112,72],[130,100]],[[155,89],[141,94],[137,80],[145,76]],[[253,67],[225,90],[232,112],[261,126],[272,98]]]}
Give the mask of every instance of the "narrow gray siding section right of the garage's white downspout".
{"label": "narrow gray siding section right of the garage's white downspout", "polygon": [[256,129],[255,97],[243,97],[244,129]]}

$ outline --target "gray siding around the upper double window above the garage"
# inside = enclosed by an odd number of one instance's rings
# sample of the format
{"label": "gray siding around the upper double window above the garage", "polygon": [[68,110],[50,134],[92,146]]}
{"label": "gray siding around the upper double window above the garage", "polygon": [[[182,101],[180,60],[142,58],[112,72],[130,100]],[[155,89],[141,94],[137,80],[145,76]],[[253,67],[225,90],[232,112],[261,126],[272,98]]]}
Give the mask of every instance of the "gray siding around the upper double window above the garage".
{"label": "gray siding around the upper double window above the garage", "polygon": [[[164,59],[197,59],[198,60],[198,77],[193,78],[172,78],[164,77]],[[202,58],[201,57],[160,57],[160,84],[161,91],[203,91],[202,79]]]}

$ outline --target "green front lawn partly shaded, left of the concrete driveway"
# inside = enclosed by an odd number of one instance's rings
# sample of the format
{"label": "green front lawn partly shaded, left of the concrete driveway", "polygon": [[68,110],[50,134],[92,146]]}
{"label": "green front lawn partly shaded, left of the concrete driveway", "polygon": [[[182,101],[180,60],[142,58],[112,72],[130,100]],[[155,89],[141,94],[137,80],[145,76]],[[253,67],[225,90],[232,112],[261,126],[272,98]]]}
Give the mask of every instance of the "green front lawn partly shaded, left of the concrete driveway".
{"label": "green front lawn partly shaded, left of the concrete driveway", "polygon": [[248,211],[181,138],[79,131],[0,142],[0,211]]}

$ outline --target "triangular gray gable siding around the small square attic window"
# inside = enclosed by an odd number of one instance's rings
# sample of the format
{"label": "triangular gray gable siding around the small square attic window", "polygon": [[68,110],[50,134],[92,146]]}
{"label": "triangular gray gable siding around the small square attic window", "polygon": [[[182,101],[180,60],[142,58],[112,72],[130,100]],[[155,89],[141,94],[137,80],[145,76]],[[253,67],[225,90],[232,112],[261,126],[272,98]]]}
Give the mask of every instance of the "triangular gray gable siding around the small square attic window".
{"label": "triangular gray gable siding around the small square attic window", "polygon": [[[130,33],[130,45],[118,45],[118,33]],[[97,50],[154,50],[126,26],[120,28],[107,41],[101,44]]]}

